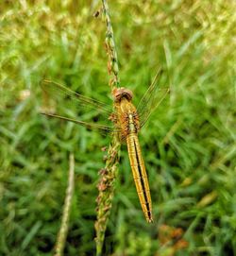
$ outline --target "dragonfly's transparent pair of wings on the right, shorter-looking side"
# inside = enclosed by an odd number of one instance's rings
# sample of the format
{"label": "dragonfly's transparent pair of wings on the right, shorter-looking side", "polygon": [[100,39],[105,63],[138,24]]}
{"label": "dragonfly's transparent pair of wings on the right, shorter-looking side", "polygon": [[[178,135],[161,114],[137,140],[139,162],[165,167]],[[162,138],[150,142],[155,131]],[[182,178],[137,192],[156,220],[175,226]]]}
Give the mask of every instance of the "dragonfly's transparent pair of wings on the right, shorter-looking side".
{"label": "dragonfly's transparent pair of wings on the right, shorter-looking side", "polygon": [[160,76],[162,73],[163,71],[159,69],[152,84],[143,95],[143,98],[137,107],[141,127],[143,127],[152,112],[156,110],[156,108],[160,105],[160,102],[170,92],[169,88],[164,88],[159,85]]}

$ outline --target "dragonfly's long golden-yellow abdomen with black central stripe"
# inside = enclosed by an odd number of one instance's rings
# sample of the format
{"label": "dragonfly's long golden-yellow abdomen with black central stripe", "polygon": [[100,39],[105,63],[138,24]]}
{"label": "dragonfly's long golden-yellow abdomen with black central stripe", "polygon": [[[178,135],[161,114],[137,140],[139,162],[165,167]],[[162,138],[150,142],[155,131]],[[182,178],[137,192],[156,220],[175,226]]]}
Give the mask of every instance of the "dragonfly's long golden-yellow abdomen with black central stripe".
{"label": "dragonfly's long golden-yellow abdomen with black central stripe", "polygon": [[126,136],[129,162],[133,173],[138,196],[147,222],[152,222],[152,202],[148,179],[145,171],[137,133]]}

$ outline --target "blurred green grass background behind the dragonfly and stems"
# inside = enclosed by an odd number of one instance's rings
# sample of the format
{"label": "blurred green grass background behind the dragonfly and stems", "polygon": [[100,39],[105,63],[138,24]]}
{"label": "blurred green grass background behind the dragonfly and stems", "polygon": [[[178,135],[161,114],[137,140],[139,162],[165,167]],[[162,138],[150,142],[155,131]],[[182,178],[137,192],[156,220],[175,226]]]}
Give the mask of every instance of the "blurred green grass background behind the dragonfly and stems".
{"label": "blurred green grass background behind the dragonfly and stems", "polygon": [[[123,145],[104,255],[236,255],[235,1],[109,4],[122,85],[137,104],[162,66],[171,94],[140,134],[155,223],[143,217]],[[39,84],[51,78],[111,103],[100,5],[1,1],[0,255],[52,255],[70,152],[65,255],[95,253],[97,173],[110,138],[40,115]]]}

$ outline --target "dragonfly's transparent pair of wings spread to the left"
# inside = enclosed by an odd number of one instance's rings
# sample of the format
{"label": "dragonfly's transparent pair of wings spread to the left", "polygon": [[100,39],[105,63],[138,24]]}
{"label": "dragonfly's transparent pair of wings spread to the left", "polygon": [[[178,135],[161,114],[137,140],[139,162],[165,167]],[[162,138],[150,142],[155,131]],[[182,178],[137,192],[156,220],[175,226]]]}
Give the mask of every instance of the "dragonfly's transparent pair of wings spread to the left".
{"label": "dragonfly's transparent pair of wings spread to the left", "polygon": [[43,80],[41,87],[47,101],[53,99],[54,103],[53,107],[43,108],[42,114],[74,122],[86,128],[115,131],[109,120],[112,111],[108,105],[77,94],[50,80]]}

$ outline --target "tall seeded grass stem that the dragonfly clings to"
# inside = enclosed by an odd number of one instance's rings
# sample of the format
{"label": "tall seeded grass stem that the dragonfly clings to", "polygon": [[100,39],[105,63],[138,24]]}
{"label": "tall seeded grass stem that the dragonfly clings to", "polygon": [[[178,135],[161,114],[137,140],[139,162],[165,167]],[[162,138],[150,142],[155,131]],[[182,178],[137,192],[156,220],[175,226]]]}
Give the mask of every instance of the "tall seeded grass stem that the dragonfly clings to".
{"label": "tall seeded grass stem that the dragonfly clings to", "polygon": [[[114,87],[120,86],[118,59],[114,43],[114,35],[112,26],[110,23],[110,11],[106,0],[102,0],[103,15],[106,20],[107,32],[106,32],[106,49],[108,54],[108,71],[110,78],[111,94]],[[117,164],[120,156],[120,141],[117,134],[113,134],[110,147],[108,150],[108,156],[106,166],[99,172],[100,180],[98,183],[99,194],[97,196],[97,220],[95,222],[96,230],[96,255],[102,255],[102,248],[105,239],[105,231],[110,216],[110,209],[112,198],[114,196],[114,182],[117,173]]]}

